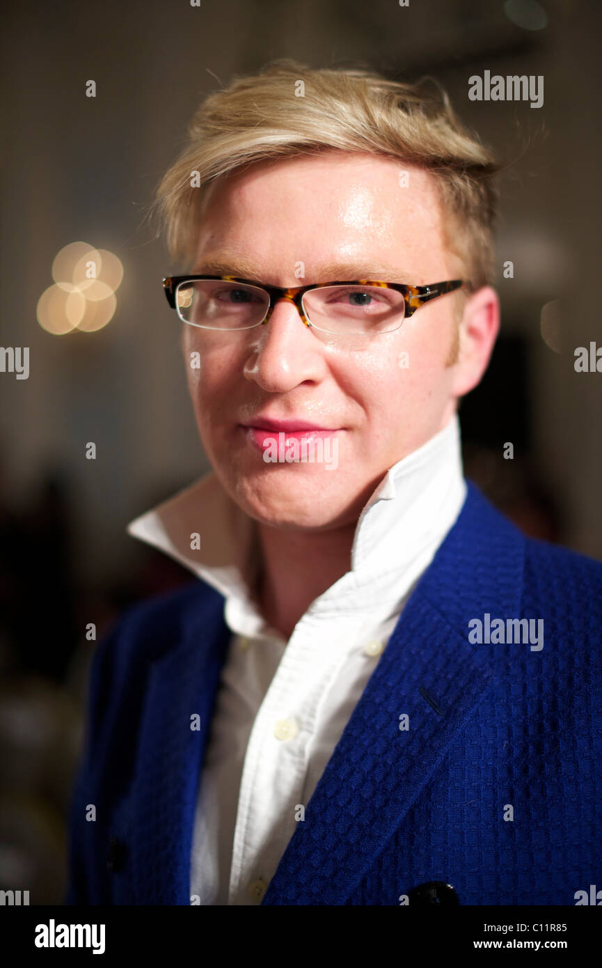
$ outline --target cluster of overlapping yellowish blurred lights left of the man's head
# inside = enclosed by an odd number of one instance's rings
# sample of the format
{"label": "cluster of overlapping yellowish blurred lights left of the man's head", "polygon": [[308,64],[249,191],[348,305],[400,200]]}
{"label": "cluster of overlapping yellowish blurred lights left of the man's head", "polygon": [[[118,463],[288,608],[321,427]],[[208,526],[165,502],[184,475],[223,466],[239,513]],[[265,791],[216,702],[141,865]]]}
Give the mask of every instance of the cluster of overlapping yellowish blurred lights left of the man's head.
{"label": "cluster of overlapping yellowish blurred lights left of the man's head", "polygon": [[38,322],[46,332],[53,336],[75,329],[93,333],[113,317],[123,265],[112,252],[88,242],[70,242],[54,257],[52,278],[54,286],[43,292],[37,309]]}

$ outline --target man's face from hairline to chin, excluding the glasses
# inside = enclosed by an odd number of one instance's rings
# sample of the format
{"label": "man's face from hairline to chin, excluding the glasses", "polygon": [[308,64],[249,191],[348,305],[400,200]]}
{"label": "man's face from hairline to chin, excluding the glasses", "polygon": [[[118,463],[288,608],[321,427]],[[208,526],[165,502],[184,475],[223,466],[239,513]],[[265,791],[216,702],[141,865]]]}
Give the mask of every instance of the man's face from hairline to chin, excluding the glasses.
{"label": "man's face from hairline to chin, excluding the glasses", "polygon": [[[407,187],[400,185],[402,170]],[[444,249],[431,176],[394,159],[340,152],[261,163],[213,182],[191,271],[281,287],[460,278]],[[386,471],[455,410],[462,375],[448,361],[457,299],[441,296],[399,330],[371,339],[316,336],[288,301],[250,330],[182,323],[198,431],[230,497],[276,527],[324,529],[356,520]],[[190,366],[193,352],[198,368]],[[260,440],[268,420],[276,422],[269,431],[276,439],[279,421],[286,421],[287,439],[295,422],[330,431],[338,442],[324,453],[333,465],[337,454],[336,468],[266,463]]]}

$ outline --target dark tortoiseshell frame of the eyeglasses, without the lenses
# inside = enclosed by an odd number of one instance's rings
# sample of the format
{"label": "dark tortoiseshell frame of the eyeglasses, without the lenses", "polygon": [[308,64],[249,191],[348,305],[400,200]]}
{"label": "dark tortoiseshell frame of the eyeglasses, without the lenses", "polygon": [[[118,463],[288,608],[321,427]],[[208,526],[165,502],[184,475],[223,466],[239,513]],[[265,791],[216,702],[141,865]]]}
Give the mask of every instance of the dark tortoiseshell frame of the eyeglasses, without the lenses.
{"label": "dark tortoiseshell frame of the eyeglasses, without the lenses", "polygon": [[[268,322],[274,306],[279,299],[288,299],[293,302],[297,308],[299,316],[302,318],[306,326],[310,328],[316,328],[306,317],[303,311],[303,304],[301,300],[306,292],[310,289],[321,289],[327,286],[375,286],[381,287],[383,289],[395,289],[397,292],[401,292],[404,296],[404,302],[406,303],[406,308],[404,311],[404,319],[410,317],[417,309],[420,309],[424,303],[429,302],[431,299],[436,299],[438,296],[445,295],[447,292],[453,292],[455,289],[459,289],[461,286],[466,285],[462,279],[453,279],[451,282],[445,283],[432,283],[430,286],[409,286],[406,283],[383,283],[374,279],[354,279],[352,281],[345,280],[344,282],[335,281],[329,283],[314,283],[312,286],[296,286],[296,287],[281,287],[281,286],[268,286],[265,283],[258,283],[253,279],[240,279],[237,276],[208,276],[205,273],[200,275],[190,275],[190,276],[166,276],[163,280],[164,289],[166,292],[167,302],[171,309],[177,311],[175,305],[175,292],[179,283],[193,283],[201,279],[207,279],[210,281],[220,281],[228,283],[241,283],[244,286],[255,286],[256,288],[263,289],[267,292],[269,296],[269,306],[267,308],[265,316],[256,322],[255,326],[260,326],[265,322]],[[184,320],[186,321],[186,320]],[[403,320],[402,320],[403,322]],[[400,322],[400,326],[402,323]],[[249,329],[255,329],[255,326],[249,326]]]}

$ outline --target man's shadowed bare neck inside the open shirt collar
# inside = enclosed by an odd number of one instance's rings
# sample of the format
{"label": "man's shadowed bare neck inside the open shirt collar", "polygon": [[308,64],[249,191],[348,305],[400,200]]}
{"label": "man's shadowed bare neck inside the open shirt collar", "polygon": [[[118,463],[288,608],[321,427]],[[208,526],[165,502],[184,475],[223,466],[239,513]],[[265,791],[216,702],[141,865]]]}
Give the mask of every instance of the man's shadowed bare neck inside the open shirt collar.
{"label": "man's shadowed bare neck inside the open shirt collar", "polygon": [[355,527],[309,534],[259,527],[257,604],[286,640],[312,602],[349,571]]}

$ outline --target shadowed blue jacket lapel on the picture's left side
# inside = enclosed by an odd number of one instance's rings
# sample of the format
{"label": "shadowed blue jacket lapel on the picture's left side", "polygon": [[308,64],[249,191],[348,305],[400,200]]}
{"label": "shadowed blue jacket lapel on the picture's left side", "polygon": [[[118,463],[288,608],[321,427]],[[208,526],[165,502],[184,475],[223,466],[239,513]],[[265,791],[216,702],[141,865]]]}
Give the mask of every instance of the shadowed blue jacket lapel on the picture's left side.
{"label": "shadowed blue jacket lapel on the picture's left side", "polygon": [[135,904],[190,904],[197,787],[230,638],[223,596],[198,591],[180,641],[150,665],[132,804]]}

